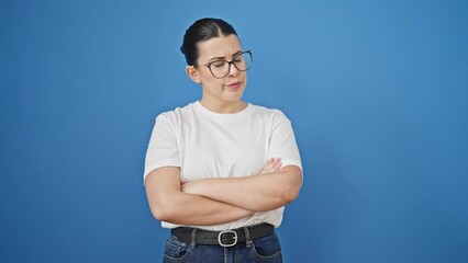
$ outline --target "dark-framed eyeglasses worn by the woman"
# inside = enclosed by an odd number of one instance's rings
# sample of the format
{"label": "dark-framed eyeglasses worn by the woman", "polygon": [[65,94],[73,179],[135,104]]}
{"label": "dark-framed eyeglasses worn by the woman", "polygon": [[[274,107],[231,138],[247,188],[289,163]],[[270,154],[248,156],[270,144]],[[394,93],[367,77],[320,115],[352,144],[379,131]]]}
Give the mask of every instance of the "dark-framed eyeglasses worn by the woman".
{"label": "dark-framed eyeglasses worn by the woman", "polygon": [[[252,67],[252,50],[242,52],[235,57],[233,57],[233,60],[215,60],[202,66],[205,66],[210,69],[211,75],[213,75],[216,79],[222,79],[230,75],[231,72],[231,65],[234,65],[234,67],[239,71],[247,71]],[[200,66],[200,65],[194,65]]]}

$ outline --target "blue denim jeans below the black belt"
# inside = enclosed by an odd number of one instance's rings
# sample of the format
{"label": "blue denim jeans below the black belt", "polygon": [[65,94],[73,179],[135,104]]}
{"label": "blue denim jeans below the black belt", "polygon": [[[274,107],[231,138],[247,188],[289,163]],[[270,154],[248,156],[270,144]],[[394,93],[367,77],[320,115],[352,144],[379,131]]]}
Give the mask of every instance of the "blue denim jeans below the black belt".
{"label": "blue denim jeans below the black belt", "polygon": [[181,242],[171,236],[164,250],[164,263],[281,263],[281,248],[275,232],[234,247]]}

